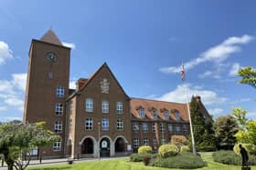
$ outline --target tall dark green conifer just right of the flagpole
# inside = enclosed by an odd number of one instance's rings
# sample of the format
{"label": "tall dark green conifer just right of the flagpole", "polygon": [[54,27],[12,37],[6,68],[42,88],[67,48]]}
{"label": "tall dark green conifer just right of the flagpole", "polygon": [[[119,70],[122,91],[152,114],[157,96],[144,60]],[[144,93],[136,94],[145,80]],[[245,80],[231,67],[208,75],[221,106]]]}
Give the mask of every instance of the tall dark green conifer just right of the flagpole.
{"label": "tall dark green conifer just right of the flagpole", "polygon": [[[197,150],[205,151],[206,147],[211,147],[212,150],[215,150],[216,145],[214,131],[212,129],[212,120],[206,119],[201,113],[197,97],[192,97],[191,99],[190,115]],[[191,136],[189,143],[191,145]]]}

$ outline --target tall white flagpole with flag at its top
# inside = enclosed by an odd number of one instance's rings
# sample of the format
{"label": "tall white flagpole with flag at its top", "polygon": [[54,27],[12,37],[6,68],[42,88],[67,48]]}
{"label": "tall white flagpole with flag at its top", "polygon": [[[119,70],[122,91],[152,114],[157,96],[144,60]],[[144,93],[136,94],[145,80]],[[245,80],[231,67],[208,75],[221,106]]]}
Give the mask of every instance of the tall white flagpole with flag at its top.
{"label": "tall white flagpole with flag at its top", "polygon": [[185,86],[185,93],[186,93],[186,100],[187,100],[187,113],[188,113],[188,119],[189,119],[189,125],[190,125],[190,134],[191,134],[191,139],[192,139],[193,154],[197,155],[196,145],[195,145],[195,140],[194,140],[194,133],[193,133],[193,126],[192,126],[189,103],[188,103],[187,84],[185,82],[185,69],[184,69],[183,64],[182,64],[181,78],[182,78],[184,86]]}

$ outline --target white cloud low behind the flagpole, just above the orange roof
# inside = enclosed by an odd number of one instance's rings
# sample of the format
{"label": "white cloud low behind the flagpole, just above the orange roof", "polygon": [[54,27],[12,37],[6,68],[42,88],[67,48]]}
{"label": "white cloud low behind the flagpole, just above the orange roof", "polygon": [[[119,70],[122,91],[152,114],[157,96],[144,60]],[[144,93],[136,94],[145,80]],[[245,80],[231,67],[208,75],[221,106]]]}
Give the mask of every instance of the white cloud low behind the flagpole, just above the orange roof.
{"label": "white cloud low behind the flagpole, just above the orange roof", "polygon": [[[221,104],[227,101],[227,98],[220,97],[210,90],[197,89],[197,86],[187,85],[187,93],[190,98],[192,95],[201,96],[201,100],[205,105]],[[190,100],[190,98],[188,100]],[[169,102],[186,103],[185,85],[177,85],[174,91],[168,92],[156,99]]]}

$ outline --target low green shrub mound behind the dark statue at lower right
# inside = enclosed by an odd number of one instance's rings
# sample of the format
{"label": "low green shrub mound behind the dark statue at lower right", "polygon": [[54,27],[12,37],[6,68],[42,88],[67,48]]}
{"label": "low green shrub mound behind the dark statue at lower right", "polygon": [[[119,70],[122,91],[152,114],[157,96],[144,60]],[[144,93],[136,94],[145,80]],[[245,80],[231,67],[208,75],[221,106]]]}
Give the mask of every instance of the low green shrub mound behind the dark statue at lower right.
{"label": "low green shrub mound behind the dark statue at lower right", "polygon": [[[215,162],[226,165],[241,165],[241,157],[233,151],[218,151],[213,155]],[[249,155],[249,165],[256,165],[256,156]]]}

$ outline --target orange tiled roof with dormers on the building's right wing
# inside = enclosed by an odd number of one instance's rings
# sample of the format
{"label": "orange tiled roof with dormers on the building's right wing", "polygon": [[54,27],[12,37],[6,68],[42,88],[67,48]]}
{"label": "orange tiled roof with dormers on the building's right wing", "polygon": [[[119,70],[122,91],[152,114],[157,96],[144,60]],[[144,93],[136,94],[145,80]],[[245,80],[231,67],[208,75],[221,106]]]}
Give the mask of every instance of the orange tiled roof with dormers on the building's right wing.
{"label": "orange tiled roof with dormers on the building's right wing", "polygon": [[[172,102],[164,102],[157,100],[131,98],[131,113],[133,117],[141,120],[157,120],[153,116],[153,110],[157,110],[158,119],[177,121],[176,111],[180,115],[180,121],[188,122],[187,104],[178,104]],[[145,117],[139,115],[139,109],[144,108]],[[165,119],[165,110],[168,110],[170,119]]]}

